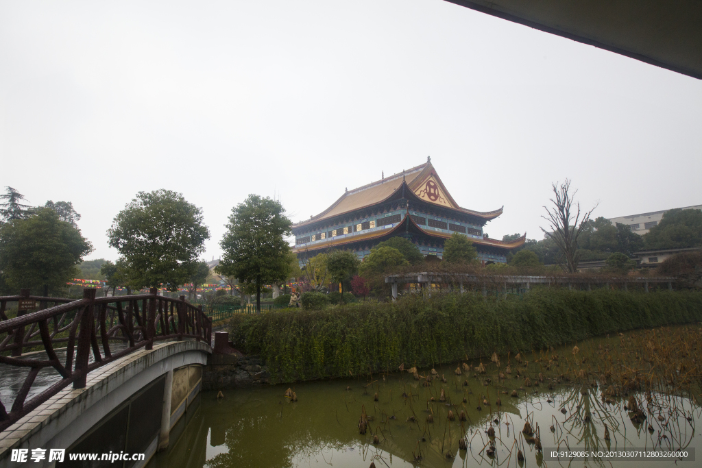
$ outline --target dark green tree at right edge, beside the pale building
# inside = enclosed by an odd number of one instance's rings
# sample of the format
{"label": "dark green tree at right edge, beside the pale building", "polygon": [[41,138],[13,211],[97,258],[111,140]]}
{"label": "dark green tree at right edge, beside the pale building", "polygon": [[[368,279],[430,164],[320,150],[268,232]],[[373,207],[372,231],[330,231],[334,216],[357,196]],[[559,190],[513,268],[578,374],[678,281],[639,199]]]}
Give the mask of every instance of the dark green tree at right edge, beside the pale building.
{"label": "dark green tree at right edge, beside the pale building", "polygon": [[644,243],[649,249],[702,247],[702,210],[666,211],[661,222],[644,234]]}

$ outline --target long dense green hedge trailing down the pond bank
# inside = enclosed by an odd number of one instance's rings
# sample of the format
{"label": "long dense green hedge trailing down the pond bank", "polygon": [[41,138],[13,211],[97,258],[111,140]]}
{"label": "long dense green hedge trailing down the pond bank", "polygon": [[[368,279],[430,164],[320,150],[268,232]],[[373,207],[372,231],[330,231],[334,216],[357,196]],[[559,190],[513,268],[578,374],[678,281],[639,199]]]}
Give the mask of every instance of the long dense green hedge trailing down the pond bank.
{"label": "long dense green hedge trailing down the pond bank", "polygon": [[702,320],[702,293],[533,290],[524,300],[410,296],[235,317],[237,348],[260,354],[279,380],[437,366],[493,352],[544,349],[633,328]]}

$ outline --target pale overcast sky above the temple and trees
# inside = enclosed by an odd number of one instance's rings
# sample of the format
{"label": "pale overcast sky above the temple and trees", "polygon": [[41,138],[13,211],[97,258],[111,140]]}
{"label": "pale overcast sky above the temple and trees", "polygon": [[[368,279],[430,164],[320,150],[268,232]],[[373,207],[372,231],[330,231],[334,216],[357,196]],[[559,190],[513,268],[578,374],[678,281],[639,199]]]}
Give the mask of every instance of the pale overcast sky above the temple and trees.
{"label": "pale overcast sky above the temple and trees", "polygon": [[426,161],[491,237],[541,239],[550,184],[594,215],[702,203],[702,81],[442,0],[0,1],[0,186],[72,201],[95,246],[136,192],[211,229],[293,221]]}

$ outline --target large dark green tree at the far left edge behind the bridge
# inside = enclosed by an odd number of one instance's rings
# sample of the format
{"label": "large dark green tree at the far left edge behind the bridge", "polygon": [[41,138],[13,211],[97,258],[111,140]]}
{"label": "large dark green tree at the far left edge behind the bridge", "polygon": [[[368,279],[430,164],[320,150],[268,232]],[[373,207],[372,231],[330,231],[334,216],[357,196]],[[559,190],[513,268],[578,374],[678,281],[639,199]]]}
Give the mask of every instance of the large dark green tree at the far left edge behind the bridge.
{"label": "large dark green tree at the far left edge behind the bridge", "polygon": [[59,293],[92,251],[79,229],[48,208],[0,227],[0,271],[11,288],[40,289],[44,296]]}

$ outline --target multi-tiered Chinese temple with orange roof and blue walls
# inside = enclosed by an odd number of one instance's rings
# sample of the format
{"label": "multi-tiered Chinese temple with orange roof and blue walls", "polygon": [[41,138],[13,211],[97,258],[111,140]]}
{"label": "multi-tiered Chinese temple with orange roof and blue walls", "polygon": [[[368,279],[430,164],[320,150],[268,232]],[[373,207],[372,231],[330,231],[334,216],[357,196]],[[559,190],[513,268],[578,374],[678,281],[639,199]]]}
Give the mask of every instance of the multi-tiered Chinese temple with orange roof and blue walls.
{"label": "multi-tiered Chinese temple with orange roof and blue walls", "polygon": [[309,258],[340,248],[363,258],[378,243],[402,236],[423,255],[442,258],[444,241],[459,232],[473,242],[482,265],[505,263],[508,251],[522,246],[527,234],[510,242],[485,236],[484,225],[502,210],[482,213],[458,206],[427,158],[421,166],[347,190],[319,215],[293,225],[293,252]]}

